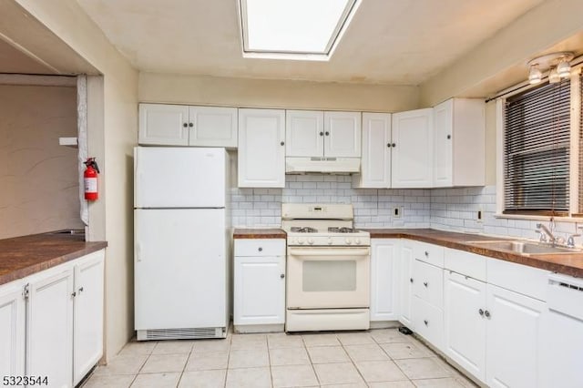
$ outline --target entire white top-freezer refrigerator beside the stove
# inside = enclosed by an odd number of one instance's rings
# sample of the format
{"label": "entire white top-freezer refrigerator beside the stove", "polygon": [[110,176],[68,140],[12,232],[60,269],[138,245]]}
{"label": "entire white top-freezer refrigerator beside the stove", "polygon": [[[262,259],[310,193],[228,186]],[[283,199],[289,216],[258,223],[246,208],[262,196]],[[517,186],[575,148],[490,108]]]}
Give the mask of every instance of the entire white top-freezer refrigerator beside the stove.
{"label": "entire white top-freezer refrigerator beside the stove", "polygon": [[224,148],[134,149],[138,341],[226,336],[229,167]]}

